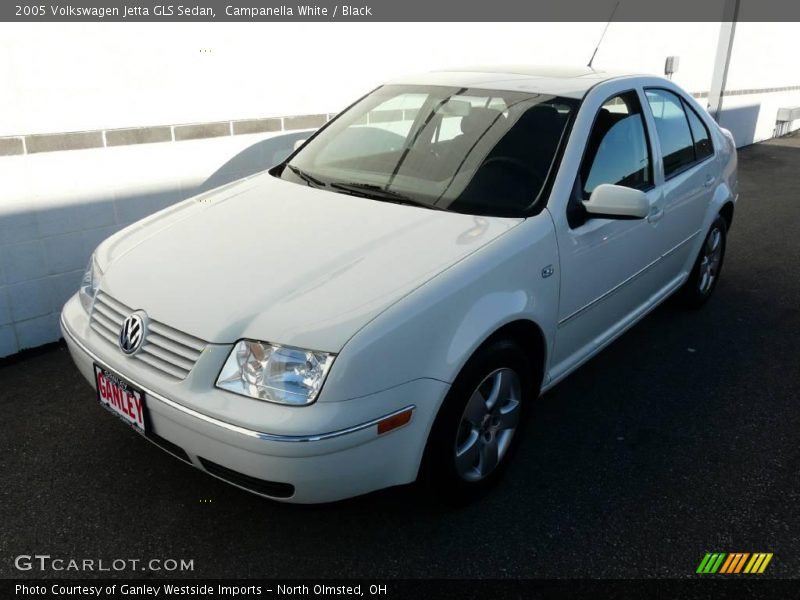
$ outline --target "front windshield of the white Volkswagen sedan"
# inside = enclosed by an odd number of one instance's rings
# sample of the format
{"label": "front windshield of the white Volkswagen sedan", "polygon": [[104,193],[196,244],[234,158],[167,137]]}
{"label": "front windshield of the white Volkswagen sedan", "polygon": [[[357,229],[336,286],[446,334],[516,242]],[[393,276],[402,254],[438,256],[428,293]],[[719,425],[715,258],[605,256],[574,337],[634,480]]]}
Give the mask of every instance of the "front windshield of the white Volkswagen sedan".
{"label": "front windshield of the white Volkswagen sedan", "polygon": [[523,216],[542,194],[576,106],[530,92],[387,85],[273,173],[385,202]]}

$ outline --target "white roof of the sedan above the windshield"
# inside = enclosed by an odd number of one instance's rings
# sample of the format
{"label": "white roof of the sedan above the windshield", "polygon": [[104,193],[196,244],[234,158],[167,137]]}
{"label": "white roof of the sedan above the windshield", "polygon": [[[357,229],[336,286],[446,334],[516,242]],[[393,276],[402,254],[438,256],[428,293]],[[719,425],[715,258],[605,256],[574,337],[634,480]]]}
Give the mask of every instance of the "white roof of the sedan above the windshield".
{"label": "white roof of the sedan above the windshield", "polygon": [[583,98],[590,88],[602,81],[637,75],[640,74],[592,67],[493,65],[406,75],[389,83],[487,88]]}

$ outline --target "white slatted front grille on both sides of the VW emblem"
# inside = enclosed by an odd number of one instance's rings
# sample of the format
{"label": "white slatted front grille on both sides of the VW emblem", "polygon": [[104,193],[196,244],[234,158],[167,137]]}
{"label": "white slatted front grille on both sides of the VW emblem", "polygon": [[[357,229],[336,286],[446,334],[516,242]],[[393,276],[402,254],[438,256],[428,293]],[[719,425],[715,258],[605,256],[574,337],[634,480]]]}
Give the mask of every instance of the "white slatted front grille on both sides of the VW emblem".
{"label": "white slatted front grille on both sides of the VW emblem", "polygon": [[[92,329],[118,347],[122,322],[133,312],[108,294],[97,292],[92,308]],[[201,339],[150,320],[142,349],[133,359],[175,379],[185,379],[205,347],[206,342]]]}

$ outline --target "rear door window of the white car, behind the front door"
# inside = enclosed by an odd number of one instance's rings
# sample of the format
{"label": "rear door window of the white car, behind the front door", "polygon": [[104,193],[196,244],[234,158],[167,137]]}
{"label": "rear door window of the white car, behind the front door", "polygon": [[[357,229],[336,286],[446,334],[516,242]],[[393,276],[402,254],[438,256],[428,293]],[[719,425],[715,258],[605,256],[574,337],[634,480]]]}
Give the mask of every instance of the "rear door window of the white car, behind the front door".
{"label": "rear door window of the white car, behind the front door", "polygon": [[664,176],[669,177],[694,162],[694,144],[683,105],[666,90],[647,90],[647,101],[656,122],[664,156]]}

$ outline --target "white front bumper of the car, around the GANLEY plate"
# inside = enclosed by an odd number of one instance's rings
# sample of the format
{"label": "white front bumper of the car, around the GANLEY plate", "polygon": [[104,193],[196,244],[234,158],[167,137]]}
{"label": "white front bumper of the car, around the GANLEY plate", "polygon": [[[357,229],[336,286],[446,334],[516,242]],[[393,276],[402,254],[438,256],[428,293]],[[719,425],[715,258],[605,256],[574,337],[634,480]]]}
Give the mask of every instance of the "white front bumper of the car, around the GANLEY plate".
{"label": "white front bumper of the car, around the GANLEY plate", "polygon": [[[420,379],[342,402],[278,406],[214,388],[219,365],[210,357],[184,381],[148,372],[92,330],[77,296],[64,306],[61,328],[92,386],[98,363],[145,392],[151,441],[215,477],[286,502],[330,502],[414,481],[448,387]],[[219,359],[229,348],[214,346],[211,354]],[[408,407],[407,425],[378,435],[379,420]]]}

